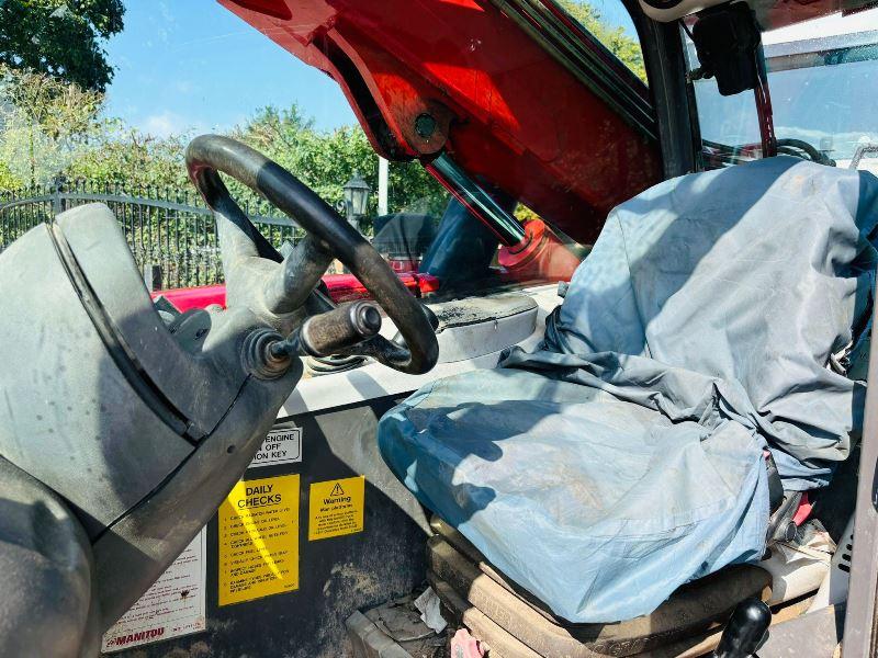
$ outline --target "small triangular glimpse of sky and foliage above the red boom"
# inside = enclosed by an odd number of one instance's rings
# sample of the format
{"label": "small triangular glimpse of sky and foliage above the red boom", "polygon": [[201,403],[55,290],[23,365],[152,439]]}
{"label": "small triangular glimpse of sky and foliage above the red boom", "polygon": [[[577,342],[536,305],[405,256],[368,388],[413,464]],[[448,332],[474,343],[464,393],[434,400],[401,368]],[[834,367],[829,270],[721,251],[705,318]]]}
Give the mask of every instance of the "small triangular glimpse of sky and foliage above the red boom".
{"label": "small triangular glimpse of sky and foliage above the red boom", "polygon": [[631,14],[619,0],[554,0],[631,72],[646,82],[643,52]]}

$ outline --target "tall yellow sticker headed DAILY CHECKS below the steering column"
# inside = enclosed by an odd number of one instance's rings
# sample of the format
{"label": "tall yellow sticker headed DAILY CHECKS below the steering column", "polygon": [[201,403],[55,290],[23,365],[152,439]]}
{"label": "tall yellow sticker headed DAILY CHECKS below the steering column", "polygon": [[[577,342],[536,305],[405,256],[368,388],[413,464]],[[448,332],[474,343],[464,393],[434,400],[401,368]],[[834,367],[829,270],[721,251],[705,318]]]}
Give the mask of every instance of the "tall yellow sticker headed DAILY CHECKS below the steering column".
{"label": "tall yellow sticker headed DAILY CHECKS below the steering column", "polygon": [[239,481],[219,506],[219,605],[299,589],[299,475]]}

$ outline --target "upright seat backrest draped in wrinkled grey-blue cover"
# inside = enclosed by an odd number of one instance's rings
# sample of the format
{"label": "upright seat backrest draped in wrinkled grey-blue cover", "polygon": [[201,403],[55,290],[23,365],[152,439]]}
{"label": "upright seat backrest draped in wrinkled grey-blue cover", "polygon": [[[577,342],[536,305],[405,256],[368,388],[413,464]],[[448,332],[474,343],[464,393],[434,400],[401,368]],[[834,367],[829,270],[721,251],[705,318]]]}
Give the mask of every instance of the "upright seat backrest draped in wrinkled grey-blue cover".
{"label": "upright seat backrest draped in wrinkled grey-blue cover", "polygon": [[876,224],[868,172],[780,157],[665,181],[612,211],[547,347],[733,381],[795,458],[838,461],[862,390],[826,365],[870,310]]}

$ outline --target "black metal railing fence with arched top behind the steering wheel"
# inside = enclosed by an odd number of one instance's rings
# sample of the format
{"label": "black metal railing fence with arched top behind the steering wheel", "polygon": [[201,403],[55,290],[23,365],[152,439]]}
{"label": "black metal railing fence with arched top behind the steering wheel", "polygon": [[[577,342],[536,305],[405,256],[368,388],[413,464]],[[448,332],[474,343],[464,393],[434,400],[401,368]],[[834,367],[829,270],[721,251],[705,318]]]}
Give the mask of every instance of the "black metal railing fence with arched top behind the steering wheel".
{"label": "black metal railing fence with arched top behind the steering wheel", "polygon": [[[101,202],[115,213],[134,260],[154,287],[187,287],[223,281],[213,214],[194,192],[168,188],[76,181],[0,191],[0,251],[34,226],[74,206]],[[304,231],[268,202],[244,211],[278,249]]]}

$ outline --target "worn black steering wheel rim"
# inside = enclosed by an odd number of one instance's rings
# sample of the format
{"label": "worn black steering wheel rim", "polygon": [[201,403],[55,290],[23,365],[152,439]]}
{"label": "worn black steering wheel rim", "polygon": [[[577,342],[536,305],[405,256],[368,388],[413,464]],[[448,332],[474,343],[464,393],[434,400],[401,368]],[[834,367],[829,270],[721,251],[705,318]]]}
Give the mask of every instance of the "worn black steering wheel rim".
{"label": "worn black steering wheel rim", "polygon": [[[294,217],[296,224],[307,232],[311,239],[306,238],[307,243],[300,245],[299,252],[291,254],[288,261],[296,260],[296,266],[308,270],[302,276],[308,290],[293,293],[280,285],[284,292],[279,294],[285,295],[282,303],[301,305],[325,272],[328,259],[338,258],[393,320],[406,344],[401,347],[376,336],[358,345],[356,353],[372,356],[390,367],[410,374],[426,373],[436,365],[439,348],[420,303],[369,241],[311,188],[259,151],[218,135],[202,135],[193,139],[187,148],[185,160],[190,179],[207,206],[214,211],[217,232],[222,223],[229,223],[238,229],[237,241],[229,247],[234,253],[256,256],[273,262],[282,260],[232,198],[218,172],[262,194],[280,211]],[[226,246],[223,249],[224,270],[234,268],[234,263],[226,262]],[[226,270],[227,279],[228,275]]]}

